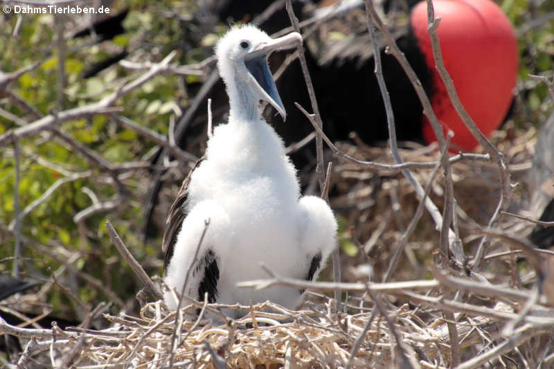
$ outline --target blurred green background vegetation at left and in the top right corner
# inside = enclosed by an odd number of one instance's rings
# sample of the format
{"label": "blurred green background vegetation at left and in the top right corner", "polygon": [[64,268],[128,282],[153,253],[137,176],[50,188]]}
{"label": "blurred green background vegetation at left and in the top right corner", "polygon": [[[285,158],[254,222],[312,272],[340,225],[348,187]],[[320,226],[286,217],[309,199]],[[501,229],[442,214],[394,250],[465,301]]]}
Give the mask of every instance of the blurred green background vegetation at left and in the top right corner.
{"label": "blurred green background vegetation at left and in the top right corner", "polygon": [[[497,3],[515,27],[520,56],[514,113],[502,129],[521,135],[530,127],[538,127],[553,109],[546,86],[528,78],[528,73],[553,75],[554,2]],[[215,15],[206,14],[193,1],[127,0],[110,3],[109,8],[112,14],[128,9],[128,15],[123,21],[124,32],[105,40],[102,35],[73,37],[87,28],[85,17],[2,15],[0,70],[12,73],[38,65],[8,87],[0,87],[0,134],[33,122],[37,115],[96,102],[123,82],[145,73],[144,69],[131,70],[114,64],[84,78],[96,63],[112,55],[125,55],[125,59],[134,62],[160,62],[171,51],[177,51],[177,64],[197,64],[211,57],[217,35],[226,30]],[[94,37],[98,37],[96,42],[91,42]],[[120,107],[118,114],[167,136],[170,120],[178,120],[184,114],[203,80],[197,75],[157,75],[120,98],[116,103]],[[35,113],[15,103],[13,96],[25,100]],[[56,134],[42,132],[19,141],[16,204],[15,147],[11,143],[0,147],[0,273],[12,273],[14,269],[16,213],[39,199],[57,181],[73,176],[21,219],[21,276],[45,283],[38,296],[47,305],[41,303],[34,309],[40,311],[47,306],[55,316],[79,319],[80,304],[93,308],[100,301],[114,301],[114,296],[118,296],[114,312],[122,308],[136,311],[134,294],[141,286],[111,244],[105,222],[109,219],[114,224],[150,275],[161,275],[164,212],[188,166],[169,163],[173,170],[163,177],[166,197],[161,197],[157,205],[160,210],[154,210],[154,220],[145,237],[144,208],[150,181],[157,172],[157,145],[102,114],[71,120],[59,128],[114,167],[129,162],[142,166],[118,170],[114,176]],[[200,156],[204,132],[197,132],[184,150]],[[75,215],[82,215],[82,210],[102,201],[114,204],[75,222]],[[341,232],[343,252],[355,253],[348,232]],[[91,284],[94,282],[96,285]]]}

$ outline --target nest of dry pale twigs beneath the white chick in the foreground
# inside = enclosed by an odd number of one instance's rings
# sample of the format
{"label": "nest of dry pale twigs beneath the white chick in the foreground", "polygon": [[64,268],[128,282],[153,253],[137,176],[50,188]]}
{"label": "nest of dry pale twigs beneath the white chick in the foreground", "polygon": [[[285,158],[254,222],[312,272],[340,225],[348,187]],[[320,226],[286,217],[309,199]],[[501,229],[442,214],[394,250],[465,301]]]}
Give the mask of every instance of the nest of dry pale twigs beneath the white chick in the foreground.
{"label": "nest of dry pale twigs beneath the white chick in the foreground", "polygon": [[[410,288],[389,292],[402,295],[409,289],[422,288],[415,282]],[[438,295],[444,296],[443,293]],[[158,301],[146,305],[140,318],[105,314],[112,323],[105,330],[56,327],[35,330],[35,338],[29,341],[18,364],[34,367],[44,363],[73,368],[168,368],[170,363],[175,368],[393,368],[406,364],[412,368],[445,368],[450,365],[449,329],[438,309],[449,306],[451,301],[429,297],[424,305],[388,308],[386,316],[373,316],[372,309],[341,313],[334,309],[333,303],[328,300],[323,305],[310,305],[298,311],[265,303],[251,307],[244,318],[214,323],[211,319],[182,321]],[[517,304],[496,303],[492,308],[460,305],[468,310],[456,314],[462,349],[494,347],[499,333],[503,327],[506,329],[506,322],[518,318]],[[208,305],[205,309],[219,307]],[[189,305],[185,310],[196,308]],[[548,332],[554,324],[553,313],[553,309],[544,309],[543,318],[528,318],[536,326],[526,323],[517,329],[516,339],[510,344],[517,346],[524,341],[522,336],[528,339],[528,335]],[[437,314],[437,318],[432,318]],[[179,322],[182,322],[180,330]],[[538,354],[533,359],[541,359],[548,342],[546,337],[539,336],[535,342],[528,343],[535,346],[533,354]],[[355,346],[357,350],[352,356]],[[512,346],[505,348],[498,356],[511,349]],[[62,363],[65,365],[61,366]],[[552,365],[553,358],[547,358],[544,363]]]}

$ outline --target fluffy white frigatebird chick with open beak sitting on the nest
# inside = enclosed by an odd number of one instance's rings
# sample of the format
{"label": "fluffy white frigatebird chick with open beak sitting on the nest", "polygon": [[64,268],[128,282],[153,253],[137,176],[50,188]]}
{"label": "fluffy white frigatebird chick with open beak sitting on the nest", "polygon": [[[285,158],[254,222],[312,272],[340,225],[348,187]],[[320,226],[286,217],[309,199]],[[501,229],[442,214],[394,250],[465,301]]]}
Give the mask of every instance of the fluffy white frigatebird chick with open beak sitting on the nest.
{"label": "fluffy white frigatebird chick with open beak sitting on the nest", "polygon": [[[283,120],[286,116],[267,57],[301,42],[298,33],[271,39],[249,25],[231,28],[217,42],[229,122],[215,127],[204,159],[188,174],[170,210],[163,235],[164,273],[177,294],[186,282],[184,293],[196,300],[204,300],[207,292],[210,303],[271,300],[294,308],[301,301],[298,289],[236,284],[268,278],[260,264],[279,276],[315,279],[336,246],[332,210],[319,197],[301,197],[283,140],[262,118],[261,101],[269,102]],[[177,307],[174,296],[164,294],[170,309]]]}

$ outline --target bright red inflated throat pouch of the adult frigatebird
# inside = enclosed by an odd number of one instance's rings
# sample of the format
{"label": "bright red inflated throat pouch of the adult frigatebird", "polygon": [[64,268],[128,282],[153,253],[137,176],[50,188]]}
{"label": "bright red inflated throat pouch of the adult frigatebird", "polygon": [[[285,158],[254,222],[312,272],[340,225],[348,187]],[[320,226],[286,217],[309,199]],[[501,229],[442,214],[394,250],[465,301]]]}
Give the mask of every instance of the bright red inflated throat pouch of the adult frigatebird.
{"label": "bright red inflated throat pouch of the adult frigatebird", "polygon": [[[440,16],[438,37],[446,69],[458,96],[481,132],[489,137],[503,122],[514,95],[517,78],[517,42],[502,10],[490,0],[435,0]],[[443,125],[454,132],[452,149],[472,151],[478,144],[450,102],[435,67],[431,39],[427,33],[427,3],[411,12],[411,26],[422,54],[433,74],[431,105]],[[427,117],[423,137],[429,144],[436,136]]]}

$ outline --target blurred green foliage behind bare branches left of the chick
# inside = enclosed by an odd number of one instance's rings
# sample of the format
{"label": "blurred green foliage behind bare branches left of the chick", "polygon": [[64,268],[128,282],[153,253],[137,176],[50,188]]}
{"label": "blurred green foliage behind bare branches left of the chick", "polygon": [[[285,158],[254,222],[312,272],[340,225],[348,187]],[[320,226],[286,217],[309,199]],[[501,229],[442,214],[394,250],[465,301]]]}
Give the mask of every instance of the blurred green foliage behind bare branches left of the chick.
{"label": "blurred green foliage behind bare branches left of the chick", "polygon": [[[179,17],[185,17],[193,11],[195,5],[188,1],[124,1],[118,3],[118,8],[111,8],[112,13],[130,7],[125,19],[126,32],[114,39],[82,46],[88,39],[68,39],[64,55],[65,84],[60,90],[57,79],[60,68],[60,55],[55,46],[53,16],[25,15],[17,36],[13,32],[17,25],[17,17],[6,17],[3,30],[0,30],[0,49],[3,57],[0,69],[10,73],[39,61],[40,64],[32,71],[21,75],[10,84],[9,89],[39,114],[46,115],[51,111],[62,111],[81,107],[96,102],[118,89],[125,81],[134,80],[144,73],[143,70],[127,70],[115,64],[92,78],[84,79],[83,71],[90,68],[94,62],[103,60],[115,51],[127,48],[129,59],[143,55],[139,62],[159,62],[170,51],[177,50],[176,61],[181,64],[197,63],[209,56],[208,47],[195,46],[197,41],[189,39],[192,34]],[[77,28],[75,24],[82,19],[66,19],[66,35]],[[71,32],[69,32],[71,30]],[[185,35],[184,35],[185,33]],[[186,52],[193,50],[190,53]],[[136,59],[135,59],[136,60]],[[168,132],[170,115],[186,105],[187,96],[179,89],[183,77],[164,74],[150,80],[139,89],[118,100],[122,107],[121,114],[137,123],[161,134]],[[197,80],[197,78],[196,78]],[[61,105],[60,105],[61,104]],[[37,117],[24,108],[14,104],[12,100],[4,99],[1,108],[27,123]],[[0,117],[0,134],[17,127],[17,122]],[[69,121],[60,125],[60,129],[75,141],[102,156],[111,165],[129,161],[140,161],[154,144],[131,129],[121,127],[104,115],[90,116]],[[123,240],[132,249],[139,260],[150,256],[160,258],[161,240],[155,239],[144,245],[143,228],[143,198],[139,198],[136,188],[145,188],[148,182],[148,172],[133,172],[122,177],[125,187],[125,200],[112,212],[100,212],[84,221],[84,234],[75,224],[73,217],[93,204],[88,195],[93,193],[98,201],[114,199],[116,186],[105,168],[98,168],[82,154],[52,134],[43,134],[26,138],[19,142],[19,213],[39,199],[56,181],[71,173],[86,174],[83,178],[62,184],[53,194],[34,208],[21,220],[21,234],[45,248],[54,250],[58,246],[73,252],[79,251],[80,258],[73,266],[106,284],[123,300],[134,300],[134,292],[139,289],[132,271],[111,245],[111,240],[105,230],[105,221],[109,218],[114,223]],[[37,161],[40,158],[40,161]],[[62,169],[58,169],[58,166]],[[3,228],[15,218],[15,153],[8,145],[0,150],[0,222]],[[9,272],[12,269],[12,257],[15,240],[7,233],[0,233],[0,271]],[[42,273],[44,278],[61,266],[60,260],[66,255],[59,254],[59,260],[52,259],[33,249],[31,244],[24,243],[24,258],[33,260],[35,272]],[[37,260],[40,260],[37,262]],[[24,267],[25,271],[26,268]],[[149,273],[159,273],[158,267],[148,270]],[[63,283],[64,276],[60,277]],[[108,300],[102,291],[91,288],[83,280],[78,280],[78,298],[93,306],[100,300]],[[74,291],[75,292],[75,291]],[[48,302],[57,312],[66,312],[66,307],[73,302],[63,291],[51,289]],[[75,311],[78,307],[74,307]]]}

